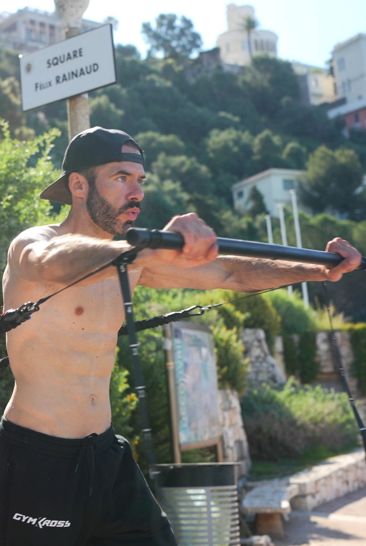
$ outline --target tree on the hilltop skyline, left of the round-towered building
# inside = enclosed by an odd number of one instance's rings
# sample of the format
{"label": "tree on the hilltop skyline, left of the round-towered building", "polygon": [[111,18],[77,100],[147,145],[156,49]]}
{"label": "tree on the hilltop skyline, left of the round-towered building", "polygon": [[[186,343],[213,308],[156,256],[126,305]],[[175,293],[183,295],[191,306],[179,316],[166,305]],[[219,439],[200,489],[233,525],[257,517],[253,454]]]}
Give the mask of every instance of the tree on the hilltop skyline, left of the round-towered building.
{"label": "tree on the hilltop skyline, left of the round-towered building", "polygon": [[160,14],[155,28],[151,23],[143,23],[141,32],[150,45],[149,55],[162,52],[165,58],[188,58],[202,46],[202,38],[194,32],[192,21],[183,15],[179,20],[173,13]]}

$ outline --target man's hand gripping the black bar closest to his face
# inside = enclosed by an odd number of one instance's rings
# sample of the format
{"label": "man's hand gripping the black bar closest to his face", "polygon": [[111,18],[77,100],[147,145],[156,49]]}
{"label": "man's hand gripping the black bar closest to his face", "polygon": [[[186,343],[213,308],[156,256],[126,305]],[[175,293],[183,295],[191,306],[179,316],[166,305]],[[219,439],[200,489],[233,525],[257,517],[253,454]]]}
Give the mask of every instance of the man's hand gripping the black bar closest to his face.
{"label": "man's hand gripping the black bar closest to his face", "polygon": [[176,268],[186,269],[207,264],[217,258],[219,247],[216,244],[216,235],[194,212],[175,216],[163,231],[180,233],[184,237],[185,245],[182,251],[155,250],[154,256],[151,256],[151,264],[156,262],[156,265],[174,265]]}

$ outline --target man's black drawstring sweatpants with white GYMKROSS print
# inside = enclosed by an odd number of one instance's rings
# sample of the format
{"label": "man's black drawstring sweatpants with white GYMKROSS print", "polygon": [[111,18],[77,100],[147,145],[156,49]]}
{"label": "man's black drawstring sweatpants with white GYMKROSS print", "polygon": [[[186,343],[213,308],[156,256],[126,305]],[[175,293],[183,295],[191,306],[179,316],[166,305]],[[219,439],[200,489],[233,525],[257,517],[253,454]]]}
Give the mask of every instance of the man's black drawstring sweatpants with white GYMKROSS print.
{"label": "man's black drawstring sweatpants with white GYMKROSS print", "polygon": [[0,422],[0,546],[176,546],[110,427],[82,440]]}

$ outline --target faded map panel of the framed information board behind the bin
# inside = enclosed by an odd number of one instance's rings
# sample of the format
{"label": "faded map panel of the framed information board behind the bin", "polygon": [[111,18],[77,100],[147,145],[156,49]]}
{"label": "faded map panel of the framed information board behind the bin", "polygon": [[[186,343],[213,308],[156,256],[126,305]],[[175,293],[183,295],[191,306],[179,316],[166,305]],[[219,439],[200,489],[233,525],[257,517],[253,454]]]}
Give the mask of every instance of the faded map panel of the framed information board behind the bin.
{"label": "faded map panel of the framed information board behind the bin", "polygon": [[180,449],[214,445],[221,428],[212,332],[185,321],[171,326]]}

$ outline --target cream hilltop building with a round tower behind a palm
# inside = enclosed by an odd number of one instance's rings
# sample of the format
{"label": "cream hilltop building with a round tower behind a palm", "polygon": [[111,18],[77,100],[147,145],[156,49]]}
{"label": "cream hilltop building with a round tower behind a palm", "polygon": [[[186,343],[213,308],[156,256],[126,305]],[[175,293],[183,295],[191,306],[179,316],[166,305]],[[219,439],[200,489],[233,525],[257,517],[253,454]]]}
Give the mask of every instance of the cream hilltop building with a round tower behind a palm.
{"label": "cream hilltop building with a round tower behind a palm", "polygon": [[[222,61],[226,64],[238,64],[249,66],[251,58],[248,45],[248,35],[244,30],[245,17],[255,19],[254,9],[251,5],[227,6],[228,30],[220,34],[216,45],[220,48]],[[274,32],[253,30],[250,33],[250,44],[252,55],[268,54],[270,57],[277,57],[278,37]]]}

